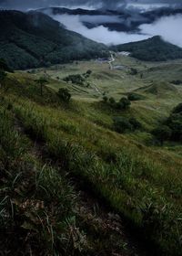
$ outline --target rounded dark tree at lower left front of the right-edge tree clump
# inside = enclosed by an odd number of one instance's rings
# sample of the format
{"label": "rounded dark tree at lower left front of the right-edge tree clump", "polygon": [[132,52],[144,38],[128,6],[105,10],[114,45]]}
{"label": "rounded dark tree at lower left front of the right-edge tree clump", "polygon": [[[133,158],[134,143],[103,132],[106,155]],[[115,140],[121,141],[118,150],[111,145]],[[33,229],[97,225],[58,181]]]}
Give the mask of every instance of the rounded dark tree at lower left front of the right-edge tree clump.
{"label": "rounded dark tree at lower left front of the right-edge tree clump", "polygon": [[163,145],[164,141],[167,141],[168,139],[170,139],[172,131],[167,125],[163,125],[163,126],[157,127],[155,130],[153,130],[152,133],[156,136],[160,144]]}

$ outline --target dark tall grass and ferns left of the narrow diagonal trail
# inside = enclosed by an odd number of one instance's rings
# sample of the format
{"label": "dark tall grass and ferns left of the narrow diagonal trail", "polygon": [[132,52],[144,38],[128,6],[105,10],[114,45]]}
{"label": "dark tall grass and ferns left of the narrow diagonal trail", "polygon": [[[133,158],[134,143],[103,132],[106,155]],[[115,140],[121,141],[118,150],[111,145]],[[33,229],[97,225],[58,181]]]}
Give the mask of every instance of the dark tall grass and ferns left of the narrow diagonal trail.
{"label": "dark tall grass and ferns left of the narrow diagonal trail", "polygon": [[[1,96],[1,251],[6,255],[104,256],[113,251],[132,255],[123,227],[121,235],[116,219],[103,216],[102,209],[95,205],[92,209],[91,202],[86,205],[81,201],[67,179],[66,165],[53,165],[55,161],[51,158],[45,162],[41,144],[35,145],[45,135],[41,123],[43,130],[38,132],[37,116],[32,115],[37,128],[37,133],[33,133],[30,126],[25,125],[24,130],[22,119],[18,120],[15,113],[18,116],[17,105],[13,106],[9,97],[5,100]],[[31,141],[25,133],[31,137],[35,134],[36,141]]]}

